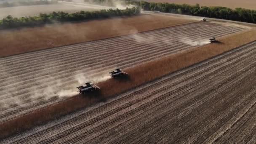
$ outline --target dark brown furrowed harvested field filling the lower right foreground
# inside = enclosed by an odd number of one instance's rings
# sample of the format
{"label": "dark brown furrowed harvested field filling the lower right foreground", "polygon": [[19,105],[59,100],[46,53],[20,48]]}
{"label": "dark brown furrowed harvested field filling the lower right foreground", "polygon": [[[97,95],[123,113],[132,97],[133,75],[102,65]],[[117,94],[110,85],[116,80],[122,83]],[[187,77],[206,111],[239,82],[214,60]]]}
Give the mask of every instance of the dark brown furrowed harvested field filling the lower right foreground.
{"label": "dark brown furrowed harvested field filling the lower right foreground", "polygon": [[0,142],[255,143],[255,56],[256,41]]}

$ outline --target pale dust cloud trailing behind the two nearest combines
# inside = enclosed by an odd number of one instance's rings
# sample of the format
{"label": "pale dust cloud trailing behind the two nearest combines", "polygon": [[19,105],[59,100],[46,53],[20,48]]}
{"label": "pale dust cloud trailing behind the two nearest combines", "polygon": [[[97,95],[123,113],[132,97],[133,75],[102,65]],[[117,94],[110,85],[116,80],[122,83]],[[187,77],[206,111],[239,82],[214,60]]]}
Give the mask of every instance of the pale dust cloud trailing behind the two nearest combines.
{"label": "pale dust cloud trailing behind the two nearest combines", "polygon": [[[23,87],[22,85],[11,84],[13,81],[22,81],[23,79],[14,80],[10,75],[6,79],[8,82],[10,82],[10,84],[3,86],[0,89],[0,93],[3,94],[3,97],[0,97],[0,108],[6,109],[22,106],[26,104],[26,101],[48,101],[52,98],[62,99],[75,96],[78,94],[76,88],[77,86],[83,85],[86,82],[100,83],[102,81],[108,80],[111,78],[108,73],[111,70],[104,70],[103,72],[97,73],[97,75],[77,71],[75,72],[74,76],[69,77],[71,81],[65,81],[65,79],[56,79],[56,77],[48,75],[45,76],[42,80],[35,80],[33,85],[29,88]],[[8,74],[6,73],[6,75]],[[21,97],[17,95],[19,93],[16,93],[15,89],[22,90],[24,88],[29,91],[29,96]]]}

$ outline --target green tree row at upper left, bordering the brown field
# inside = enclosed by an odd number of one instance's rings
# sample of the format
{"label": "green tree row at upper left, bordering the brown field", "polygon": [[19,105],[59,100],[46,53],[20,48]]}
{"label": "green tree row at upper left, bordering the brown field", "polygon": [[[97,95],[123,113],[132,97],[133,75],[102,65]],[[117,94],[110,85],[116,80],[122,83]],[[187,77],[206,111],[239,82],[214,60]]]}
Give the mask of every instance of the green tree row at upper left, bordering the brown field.
{"label": "green tree row at upper left, bordering the brown field", "polygon": [[0,20],[0,28],[15,28],[15,27],[31,27],[42,24],[51,24],[54,22],[66,22],[66,21],[84,21],[90,19],[101,19],[115,16],[133,16],[140,13],[140,8],[126,8],[109,9],[100,11],[80,11],[76,13],[65,12],[52,12],[49,14],[40,13],[39,16],[29,16],[21,18],[13,18],[12,16],[6,16]]}

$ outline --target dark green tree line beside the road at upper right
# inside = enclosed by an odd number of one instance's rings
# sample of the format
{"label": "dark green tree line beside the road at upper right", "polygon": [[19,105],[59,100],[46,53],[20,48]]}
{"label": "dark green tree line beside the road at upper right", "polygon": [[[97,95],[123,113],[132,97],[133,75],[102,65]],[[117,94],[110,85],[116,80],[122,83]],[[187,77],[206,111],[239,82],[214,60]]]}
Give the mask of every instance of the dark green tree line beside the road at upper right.
{"label": "dark green tree line beside the road at upper right", "polygon": [[219,6],[200,6],[174,3],[149,3],[145,1],[125,1],[126,4],[140,6],[145,11],[161,11],[165,13],[177,13],[192,16],[203,16],[216,19],[227,19],[256,23],[256,11],[245,8],[226,8]]}

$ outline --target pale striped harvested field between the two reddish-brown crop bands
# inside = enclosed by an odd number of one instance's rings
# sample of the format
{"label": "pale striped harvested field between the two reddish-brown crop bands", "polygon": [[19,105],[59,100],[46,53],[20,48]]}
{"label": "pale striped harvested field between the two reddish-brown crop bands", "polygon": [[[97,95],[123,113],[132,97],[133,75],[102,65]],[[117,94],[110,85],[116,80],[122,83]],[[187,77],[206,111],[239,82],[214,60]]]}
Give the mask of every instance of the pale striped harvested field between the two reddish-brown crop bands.
{"label": "pale striped harvested field between the two reddish-brown crop bands", "polygon": [[[63,81],[63,85],[74,84],[76,81],[73,77],[77,71],[93,76],[105,69],[132,67],[191,47],[181,43],[180,39],[184,35],[192,40],[200,40],[212,36],[221,37],[240,30],[243,28],[219,24],[186,24],[0,59],[0,64],[5,67],[0,72],[7,73],[1,75],[3,89],[0,90],[0,101],[5,101],[10,96],[19,97],[24,101],[21,106],[1,110],[0,121],[30,112],[35,107],[39,108],[40,102],[27,101],[33,88],[44,89],[48,85],[54,85],[55,80]],[[144,39],[149,41],[141,41]],[[45,79],[47,76],[51,76],[53,82],[48,82],[49,79]],[[56,100],[49,101],[48,104],[52,103],[56,103]]]}

